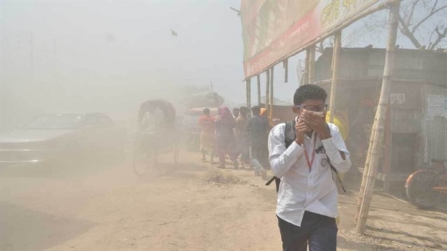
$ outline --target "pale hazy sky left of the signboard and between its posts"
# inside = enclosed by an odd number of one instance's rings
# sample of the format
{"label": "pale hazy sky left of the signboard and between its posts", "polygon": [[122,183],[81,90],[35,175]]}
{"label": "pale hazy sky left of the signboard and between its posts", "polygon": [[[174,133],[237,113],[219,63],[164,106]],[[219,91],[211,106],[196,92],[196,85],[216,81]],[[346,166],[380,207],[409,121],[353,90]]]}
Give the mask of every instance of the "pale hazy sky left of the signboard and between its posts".
{"label": "pale hazy sky left of the signboard and between its posts", "polygon": [[[13,109],[136,110],[146,99],[175,99],[181,86],[210,80],[230,104],[245,100],[242,29],[230,10],[240,1],[0,4],[3,119]],[[289,63],[288,84],[275,68],[275,98],[291,100],[297,60]]]}

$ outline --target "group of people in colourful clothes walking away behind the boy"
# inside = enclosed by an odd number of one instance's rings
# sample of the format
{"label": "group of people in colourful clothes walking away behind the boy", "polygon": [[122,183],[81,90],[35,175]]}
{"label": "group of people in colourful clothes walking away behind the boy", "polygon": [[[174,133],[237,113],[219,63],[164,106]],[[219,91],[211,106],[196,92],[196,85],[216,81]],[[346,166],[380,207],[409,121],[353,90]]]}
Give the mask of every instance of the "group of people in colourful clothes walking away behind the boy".
{"label": "group of people in colourful clothes walking away behind the boy", "polygon": [[[226,156],[233,162],[235,169],[242,165],[254,169],[255,176],[266,176],[268,164],[268,133],[270,123],[267,111],[261,107],[233,109],[219,107],[217,116],[212,116],[210,109],[203,109],[200,116],[200,150],[202,160],[210,155],[214,163],[214,154],[219,158],[217,167],[226,167]],[[238,162],[238,158],[240,158]]]}

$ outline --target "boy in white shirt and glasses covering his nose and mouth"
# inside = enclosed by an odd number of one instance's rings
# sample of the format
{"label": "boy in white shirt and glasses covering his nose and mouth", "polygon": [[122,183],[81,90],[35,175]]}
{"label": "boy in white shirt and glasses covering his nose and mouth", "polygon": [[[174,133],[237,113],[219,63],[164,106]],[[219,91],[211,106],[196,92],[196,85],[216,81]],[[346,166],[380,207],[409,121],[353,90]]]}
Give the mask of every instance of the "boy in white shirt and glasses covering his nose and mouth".
{"label": "boy in white shirt and glasses covering his nose and mouth", "polygon": [[276,214],[284,251],[337,250],[338,192],[331,165],[344,173],[351,160],[339,129],[325,121],[327,96],[319,86],[300,86],[293,126],[281,123],[269,135],[270,165],[280,178]]}

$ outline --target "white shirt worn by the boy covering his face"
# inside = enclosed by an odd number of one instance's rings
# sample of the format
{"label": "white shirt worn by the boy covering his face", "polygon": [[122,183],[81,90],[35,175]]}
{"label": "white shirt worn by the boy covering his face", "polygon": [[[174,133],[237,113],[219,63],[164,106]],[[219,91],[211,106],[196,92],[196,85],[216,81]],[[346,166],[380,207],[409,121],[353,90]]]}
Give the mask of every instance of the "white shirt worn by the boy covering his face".
{"label": "white shirt worn by the boy covering his face", "polygon": [[[274,176],[281,178],[277,197],[276,213],[279,218],[293,225],[301,226],[305,211],[337,218],[337,187],[332,180],[328,158],[339,173],[345,173],[351,167],[349,151],[337,126],[329,123],[328,139],[319,139],[316,132],[312,138],[305,135],[303,146],[294,141],[286,149],[284,130],[286,124],[275,126],[268,137],[269,160]],[[315,137],[316,146],[313,146]],[[321,149],[324,146],[324,149]],[[313,150],[321,149],[315,154],[312,168],[309,169],[305,157],[305,148],[312,160]],[[344,152],[345,160],[339,151]]]}

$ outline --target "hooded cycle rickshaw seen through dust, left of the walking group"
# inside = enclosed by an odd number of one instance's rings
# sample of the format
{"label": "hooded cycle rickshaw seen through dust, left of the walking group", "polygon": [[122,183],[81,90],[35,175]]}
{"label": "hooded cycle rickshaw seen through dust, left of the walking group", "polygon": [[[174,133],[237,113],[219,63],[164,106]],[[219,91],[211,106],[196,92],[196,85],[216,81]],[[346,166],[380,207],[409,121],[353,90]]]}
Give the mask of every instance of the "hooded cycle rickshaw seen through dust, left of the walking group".
{"label": "hooded cycle rickshaw seen through dust, left of the walking group", "polygon": [[[163,121],[156,131],[142,128],[142,120],[152,107],[163,112]],[[138,130],[133,143],[133,171],[143,176],[158,164],[160,153],[173,153],[177,163],[179,153],[179,131],[175,123],[175,108],[166,100],[147,100],[140,105],[138,112]]]}

